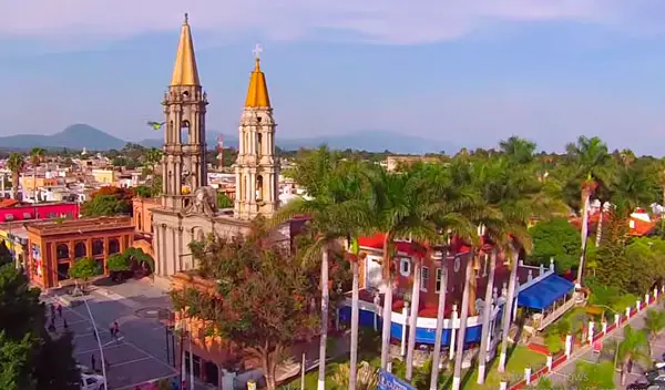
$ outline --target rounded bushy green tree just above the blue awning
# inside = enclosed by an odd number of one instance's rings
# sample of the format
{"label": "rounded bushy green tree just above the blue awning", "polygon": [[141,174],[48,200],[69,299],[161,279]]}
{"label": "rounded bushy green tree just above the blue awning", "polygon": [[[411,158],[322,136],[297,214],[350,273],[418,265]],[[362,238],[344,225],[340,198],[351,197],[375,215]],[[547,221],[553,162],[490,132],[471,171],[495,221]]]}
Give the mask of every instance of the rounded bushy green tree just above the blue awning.
{"label": "rounded bushy green tree just above the blue awning", "polygon": [[529,229],[533,239],[530,263],[548,266],[550,259],[560,274],[580,263],[580,232],[565,218],[540,222]]}

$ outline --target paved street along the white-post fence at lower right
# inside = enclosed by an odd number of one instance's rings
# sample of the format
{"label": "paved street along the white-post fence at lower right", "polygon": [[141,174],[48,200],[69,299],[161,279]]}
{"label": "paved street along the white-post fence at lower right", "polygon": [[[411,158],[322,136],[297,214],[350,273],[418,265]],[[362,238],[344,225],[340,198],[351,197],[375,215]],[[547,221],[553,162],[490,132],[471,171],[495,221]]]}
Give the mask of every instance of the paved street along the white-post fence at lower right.
{"label": "paved street along the white-post fence at lower right", "polygon": [[[663,310],[663,304],[657,304],[652,306],[653,309]],[[642,329],[644,327],[644,318],[646,317],[646,310],[641,311],[637,316],[635,316],[630,325],[635,329]],[[614,360],[614,350],[615,346],[623,340],[623,329],[618,329],[607,336],[603,341],[603,350],[598,356],[597,353],[593,353],[593,351],[589,348],[583,353],[581,353],[576,359],[572,359],[556,370],[552,372],[550,379],[552,382],[556,384],[564,384],[570,374],[575,371],[575,365],[577,361],[587,361],[587,362],[597,362],[597,361],[613,361]],[[654,342],[651,343],[652,348],[652,357],[656,361],[662,361],[663,353],[665,353],[665,335],[661,335]],[[579,349],[581,350],[581,349]],[[574,352],[573,352],[574,353]],[[628,374],[626,378],[626,386],[631,384],[637,380],[644,379],[644,369],[637,362],[633,366],[633,372]],[[621,373],[616,371],[614,383],[616,389],[625,389],[625,386],[621,386]]]}

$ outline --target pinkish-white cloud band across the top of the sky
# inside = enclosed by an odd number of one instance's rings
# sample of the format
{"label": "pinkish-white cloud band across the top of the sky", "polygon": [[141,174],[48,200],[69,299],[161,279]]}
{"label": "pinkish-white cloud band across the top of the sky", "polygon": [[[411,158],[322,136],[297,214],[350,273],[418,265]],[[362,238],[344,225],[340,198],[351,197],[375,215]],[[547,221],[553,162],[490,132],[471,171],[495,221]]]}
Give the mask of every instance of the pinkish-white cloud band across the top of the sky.
{"label": "pinkish-white cloud band across the top of the sky", "polygon": [[[338,29],[377,43],[457,39],[497,22],[574,21],[634,30],[659,25],[657,0],[21,0],[2,1],[0,38],[90,44],[174,31],[187,11],[196,31],[307,39]],[[645,21],[651,23],[645,23]]]}

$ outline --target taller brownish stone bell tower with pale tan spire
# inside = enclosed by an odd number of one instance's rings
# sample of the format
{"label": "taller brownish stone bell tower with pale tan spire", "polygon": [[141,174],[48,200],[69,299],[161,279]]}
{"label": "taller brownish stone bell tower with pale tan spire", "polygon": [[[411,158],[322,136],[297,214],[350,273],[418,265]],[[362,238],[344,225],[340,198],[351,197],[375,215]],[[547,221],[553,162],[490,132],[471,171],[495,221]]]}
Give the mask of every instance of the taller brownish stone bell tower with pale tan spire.
{"label": "taller brownish stone bell tower with pale tan spire", "polygon": [[196,69],[194,43],[185,13],[175,65],[168,91],[164,94],[166,132],[162,158],[162,206],[184,207],[183,188],[191,192],[207,185],[205,161],[205,112],[208,104]]}

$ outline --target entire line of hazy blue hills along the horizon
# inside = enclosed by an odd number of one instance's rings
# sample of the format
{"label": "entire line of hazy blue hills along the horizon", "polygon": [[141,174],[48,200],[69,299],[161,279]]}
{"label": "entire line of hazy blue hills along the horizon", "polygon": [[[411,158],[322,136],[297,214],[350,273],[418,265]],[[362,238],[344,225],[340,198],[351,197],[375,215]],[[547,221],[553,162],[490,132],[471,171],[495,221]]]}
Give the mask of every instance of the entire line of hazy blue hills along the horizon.
{"label": "entire line of hazy blue hills along the horizon", "polygon": [[[208,148],[215,147],[219,133],[211,131],[206,134]],[[0,137],[0,148],[3,150],[30,150],[32,147],[44,148],[72,148],[91,151],[121,150],[127,141],[109,135],[103,131],[88,124],[73,124],[60,133],[53,135],[21,134]],[[145,147],[161,147],[164,138],[149,138],[137,142]],[[458,146],[444,141],[428,140],[418,136],[405,135],[389,131],[357,131],[348,134],[327,135],[306,138],[285,138],[277,135],[277,146],[286,151],[300,147],[317,147],[327,144],[336,150],[361,150],[367,152],[390,151],[393,153],[437,153],[446,151],[453,153]],[[224,145],[238,147],[237,135],[224,135]]]}

